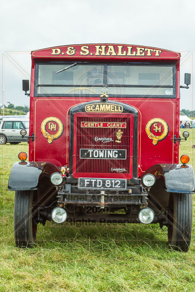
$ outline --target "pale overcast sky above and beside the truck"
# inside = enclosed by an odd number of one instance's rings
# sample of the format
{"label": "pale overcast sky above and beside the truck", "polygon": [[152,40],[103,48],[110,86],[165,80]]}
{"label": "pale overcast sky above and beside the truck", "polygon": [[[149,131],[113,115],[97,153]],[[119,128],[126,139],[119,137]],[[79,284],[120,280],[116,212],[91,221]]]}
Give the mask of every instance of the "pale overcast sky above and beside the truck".
{"label": "pale overcast sky above and beside the truck", "polygon": [[[30,78],[31,50],[67,44],[124,43],[181,52],[180,84],[184,85],[184,73],[195,69],[194,8],[192,0],[2,2],[0,66],[5,105],[29,105],[22,79]],[[195,109],[193,81],[190,89],[180,91],[180,109]],[[2,84],[0,90],[2,94]]]}

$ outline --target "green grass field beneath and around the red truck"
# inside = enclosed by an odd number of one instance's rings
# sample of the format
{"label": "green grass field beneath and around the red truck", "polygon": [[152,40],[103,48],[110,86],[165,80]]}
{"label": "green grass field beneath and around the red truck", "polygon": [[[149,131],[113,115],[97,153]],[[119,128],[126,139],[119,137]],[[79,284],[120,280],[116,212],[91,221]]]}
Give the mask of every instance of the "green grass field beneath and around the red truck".
{"label": "green grass field beneath and around the red truck", "polygon": [[[195,144],[195,129],[189,132],[180,155],[188,154],[195,167],[190,142]],[[16,248],[14,192],[7,185],[12,164],[20,151],[28,151],[28,144],[8,143],[0,151],[0,292],[194,292],[194,220],[187,253],[169,249],[167,228],[160,229],[159,224],[59,226],[48,222],[44,227],[38,224],[34,249]]]}

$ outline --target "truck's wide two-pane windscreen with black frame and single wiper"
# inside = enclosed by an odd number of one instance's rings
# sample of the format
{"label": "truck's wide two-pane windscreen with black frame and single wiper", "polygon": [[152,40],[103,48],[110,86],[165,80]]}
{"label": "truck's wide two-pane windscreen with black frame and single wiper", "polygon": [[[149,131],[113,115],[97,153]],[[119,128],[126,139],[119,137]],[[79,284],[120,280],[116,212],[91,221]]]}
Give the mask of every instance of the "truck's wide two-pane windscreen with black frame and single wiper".
{"label": "truck's wide two-pane windscreen with black frame and single wiper", "polygon": [[107,87],[116,97],[175,97],[169,64],[38,63],[36,70],[35,96],[100,96]]}

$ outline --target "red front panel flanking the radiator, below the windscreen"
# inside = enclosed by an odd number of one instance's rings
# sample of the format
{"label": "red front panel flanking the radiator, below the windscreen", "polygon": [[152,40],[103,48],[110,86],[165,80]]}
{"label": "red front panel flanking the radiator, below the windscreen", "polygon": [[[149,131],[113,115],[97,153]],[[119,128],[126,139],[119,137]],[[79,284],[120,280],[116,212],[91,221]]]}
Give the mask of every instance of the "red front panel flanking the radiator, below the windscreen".
{"label": "red front panel flanking the radiator, below the windscreen", "polygon": [[[87,100],[94,99],[34,98],[31,106],[31,132],[34,132],[37,138],[34,142],[30,141],[29,161],[49,161],[57,166],[69,163],[68,112],[71,107]],[[110,98],[110,100],[117,99]],[[141,170],[145,171],[156,163],[177,163],[179,145],[174,144],[173,140],[171,140],[173,135],[176,134],[176,128],[179,127],[176,120],[177,99],[121,98],[117,101],[138,109],[138,164],[141,165]],[[41,124],[48,117],[58,118],[64,127],[62,135],[54,139],[52,143],[48,142],[48,137],[44,137],[41,131]],[[153,140],[148,137],[146,132],[147,123],[153,119],[156,119],[157,123],[158,119],[164,120],[169,129],[168,135],[163,140],[158,141],[158,144],[153,144]],[[53,118],[50,120],[50,122],[53,122]],[[159,128],[160,124],[157,126]],[[48,129],[48,124],[46,127]],[[57,129],[58,126],[56,126]],[[52,129],[52,132],[56,133],[54,129]],[[152,130],[152,133],[155,134],[154,130]]]}

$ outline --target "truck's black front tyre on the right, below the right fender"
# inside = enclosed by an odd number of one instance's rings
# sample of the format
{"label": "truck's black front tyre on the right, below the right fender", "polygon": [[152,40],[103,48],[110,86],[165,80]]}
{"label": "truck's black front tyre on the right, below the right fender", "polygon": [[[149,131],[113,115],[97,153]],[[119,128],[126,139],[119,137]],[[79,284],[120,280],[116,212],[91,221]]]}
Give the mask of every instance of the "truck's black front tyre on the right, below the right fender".
{"label": "truck's black front tyre on the right, below the right fender", "polygon": [[192,195],[170,193],[168,243],[173,250],[187,252],[192,233]]}

